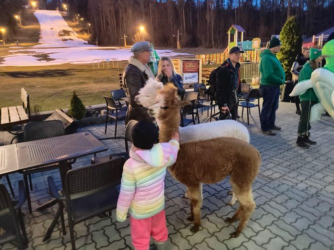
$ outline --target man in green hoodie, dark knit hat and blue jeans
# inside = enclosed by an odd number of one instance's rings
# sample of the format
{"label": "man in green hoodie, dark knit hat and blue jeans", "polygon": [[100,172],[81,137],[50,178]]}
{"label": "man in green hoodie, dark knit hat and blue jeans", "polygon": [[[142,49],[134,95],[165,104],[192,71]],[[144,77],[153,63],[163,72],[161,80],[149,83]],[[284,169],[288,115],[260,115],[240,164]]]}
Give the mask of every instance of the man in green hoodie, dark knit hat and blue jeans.
{"label": "man in green hoodie, dark knit hat and blue jeans", "polygon": [[269,49],[261,53],[260,93],[263,96],[261,112],[261,130],[265,135],[275,136],[272,130],[281,130],[275,126],[276,110],[280,96],[280,85],[285,83],[285,72],[276,54],[281,50],[281,42],[273,37],[269,42]]}

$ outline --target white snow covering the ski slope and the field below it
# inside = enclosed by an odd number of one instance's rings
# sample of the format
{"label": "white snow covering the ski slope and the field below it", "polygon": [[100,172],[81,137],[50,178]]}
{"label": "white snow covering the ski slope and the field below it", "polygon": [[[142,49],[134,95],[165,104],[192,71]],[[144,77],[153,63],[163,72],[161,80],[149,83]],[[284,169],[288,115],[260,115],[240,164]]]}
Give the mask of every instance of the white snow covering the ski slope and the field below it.
{"label": "white snow covering the ski slope and the field below it", "polygon": [[[77,38],[58,11],[39,10],[34,13],[41,26],[39,45],[34,47],[12,47],[16,50],[3,56],[0,66],[44,66],[64,63],[92,63],[97,59],[128,60],[130,49],[98,47],[88,45]],[[159,56],[189,55],[171,50],[157,50]]]}

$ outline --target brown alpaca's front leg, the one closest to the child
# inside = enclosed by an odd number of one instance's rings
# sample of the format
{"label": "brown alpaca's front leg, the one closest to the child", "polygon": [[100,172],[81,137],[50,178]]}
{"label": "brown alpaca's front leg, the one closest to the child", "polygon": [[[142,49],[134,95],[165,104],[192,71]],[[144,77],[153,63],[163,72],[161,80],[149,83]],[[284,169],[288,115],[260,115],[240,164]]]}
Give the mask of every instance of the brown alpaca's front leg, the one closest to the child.
{"label": "brown alpaca's front leg, the one closest to the child", "polygon": [[190,229],[192,232],[197,232],[200,229],[201,225],[201,185],[188,187],[189,195],[190,195],[190,204],[192,209],[192,215],[194,218],[194,226]]}

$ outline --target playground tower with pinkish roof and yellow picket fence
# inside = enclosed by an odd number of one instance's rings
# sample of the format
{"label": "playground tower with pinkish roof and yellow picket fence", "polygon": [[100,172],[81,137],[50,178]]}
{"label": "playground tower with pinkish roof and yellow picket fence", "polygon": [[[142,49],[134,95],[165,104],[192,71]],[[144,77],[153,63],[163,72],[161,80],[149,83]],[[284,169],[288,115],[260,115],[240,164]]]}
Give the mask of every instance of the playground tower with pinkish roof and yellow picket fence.
{"label": "playground tower with pinkish roof and yellow picket fence", "polygon": [[244,33],[245,30],[241,26],[231,25],[227,31],[227,47],[222,53],[196,55],[196,58],[201,59],[203,64],[222,64],[228,58],[228,51],[230,48],[238,46],[244,51],[240,58],[240,62],[260,62],[260,53],[265,48],[261,48],[261,39],[254,38],[252,41],[243,41]]}

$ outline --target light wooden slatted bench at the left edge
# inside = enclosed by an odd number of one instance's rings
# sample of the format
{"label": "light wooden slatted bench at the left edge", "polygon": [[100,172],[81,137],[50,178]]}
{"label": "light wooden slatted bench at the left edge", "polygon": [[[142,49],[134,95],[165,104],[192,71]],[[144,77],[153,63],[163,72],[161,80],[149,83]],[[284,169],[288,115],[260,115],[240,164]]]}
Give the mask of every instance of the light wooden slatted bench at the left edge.
{"label": "light wooden slatted bench at the left edge", "polygon": [[29,95],[27,94],[27,91],[24,88],[21,88],[21,100],[22,100],[22,106],[1,108],[1,126],[6,128],[7,130],[10,127],[23,124],[29,121],[29,116],[30,116]]}

